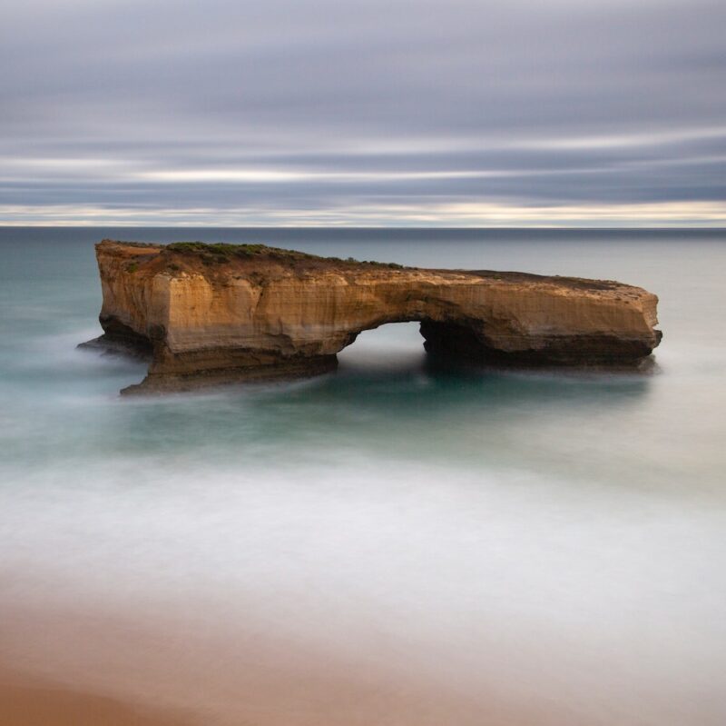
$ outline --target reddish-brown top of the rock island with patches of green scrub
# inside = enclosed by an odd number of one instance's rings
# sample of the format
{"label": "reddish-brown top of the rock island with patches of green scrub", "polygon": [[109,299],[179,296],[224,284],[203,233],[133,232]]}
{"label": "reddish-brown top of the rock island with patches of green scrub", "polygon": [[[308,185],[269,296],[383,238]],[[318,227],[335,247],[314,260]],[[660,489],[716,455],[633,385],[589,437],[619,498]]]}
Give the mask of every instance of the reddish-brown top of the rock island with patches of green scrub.
{"label": "reddish-brown top of the rock island with patches of green scrub", "polygon": [[493,270],[441,270],[407,267],[401,264],[358,261],[353,258],[320,257],[265,244],[205,244],[178,242],[144,244],[103,240],[96,245],[98,254],[122,257],[126,270],[140,276],[169,273],[174,276],[201,274],[212,282],[236,276],[269,281],[289,277],[310,279],[328,274],[345,277],[349,282],[429,282],[438,284],[487,283],[516,287],[556,287],[563,293],[587,296],[637,297],[642,288],[612,280],[589,280],[580,277],[496,272]]}

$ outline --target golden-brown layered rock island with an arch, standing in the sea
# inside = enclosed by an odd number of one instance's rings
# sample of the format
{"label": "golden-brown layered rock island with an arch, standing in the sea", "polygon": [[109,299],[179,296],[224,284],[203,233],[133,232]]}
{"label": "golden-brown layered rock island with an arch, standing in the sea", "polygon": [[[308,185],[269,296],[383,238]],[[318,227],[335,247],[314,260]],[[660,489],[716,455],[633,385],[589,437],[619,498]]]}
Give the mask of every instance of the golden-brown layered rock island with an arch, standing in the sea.
{"label": "golden-brown layered rock island with an arch, standing in the sea", "polygon": [[383,323],[420,321],[430,353],[504,364],[633,364],[661,335],[656,296],[622,283],[262,245],[104,240],[96,256],[103,342],[151,352],[144,390],[330,370],[358,333]]}

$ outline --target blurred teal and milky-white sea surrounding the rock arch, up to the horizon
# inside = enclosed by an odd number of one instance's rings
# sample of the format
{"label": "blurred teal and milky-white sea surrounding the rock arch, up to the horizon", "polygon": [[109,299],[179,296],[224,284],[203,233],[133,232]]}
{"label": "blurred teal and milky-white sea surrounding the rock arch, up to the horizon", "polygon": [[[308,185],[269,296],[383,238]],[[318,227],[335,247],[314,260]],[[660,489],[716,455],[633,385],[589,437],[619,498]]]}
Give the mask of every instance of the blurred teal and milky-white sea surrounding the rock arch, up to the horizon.
{"label": "blurred teal and milky-white sea surrounding the rock arch, up to the horizon", "polygon": [[[660,296],[656,369],[121,399],[93,243],[262,242]],[[234,726],[726,723],[726,233],[0,229],[0,664]]]}

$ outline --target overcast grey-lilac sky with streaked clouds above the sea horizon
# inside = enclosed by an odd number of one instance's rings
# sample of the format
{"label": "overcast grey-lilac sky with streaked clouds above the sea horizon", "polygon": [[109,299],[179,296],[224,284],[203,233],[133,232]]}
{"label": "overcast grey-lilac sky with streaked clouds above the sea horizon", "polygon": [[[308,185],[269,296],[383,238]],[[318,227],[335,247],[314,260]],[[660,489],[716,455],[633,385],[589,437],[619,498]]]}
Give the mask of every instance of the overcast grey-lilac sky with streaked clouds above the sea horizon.
{"label": "overcast grey-lilac sky with streaked clouds above the sea horizon", "polygon": [[4,0],[0,224],[726,226],[726,3]]}

